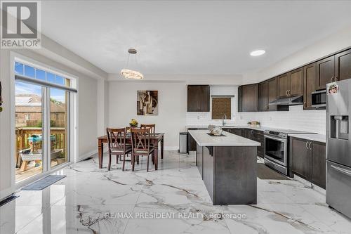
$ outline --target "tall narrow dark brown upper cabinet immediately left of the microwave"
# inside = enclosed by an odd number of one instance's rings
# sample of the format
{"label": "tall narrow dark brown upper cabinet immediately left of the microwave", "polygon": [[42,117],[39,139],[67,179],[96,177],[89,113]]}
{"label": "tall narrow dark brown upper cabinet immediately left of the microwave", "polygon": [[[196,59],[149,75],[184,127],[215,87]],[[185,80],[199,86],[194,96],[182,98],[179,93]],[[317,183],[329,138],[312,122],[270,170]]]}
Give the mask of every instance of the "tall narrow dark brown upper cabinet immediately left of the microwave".
{"label": "tall narrow dark brown upper cabinet immediately left of the microwave", "polygon": [[303,67],[303,110],[312,110],[312,92],[316,91],[316,63]]}

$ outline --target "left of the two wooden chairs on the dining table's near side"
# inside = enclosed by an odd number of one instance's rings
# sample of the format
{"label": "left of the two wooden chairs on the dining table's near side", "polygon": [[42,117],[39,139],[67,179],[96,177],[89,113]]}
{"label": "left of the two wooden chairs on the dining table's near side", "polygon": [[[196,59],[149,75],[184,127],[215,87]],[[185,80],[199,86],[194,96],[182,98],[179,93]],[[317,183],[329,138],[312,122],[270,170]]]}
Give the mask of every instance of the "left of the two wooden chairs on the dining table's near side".
{"label": "left of the two wooden chairs on the dining table's near side", "polygon": [[108,141],[108,147],[109,147],[108,170],[110,171],[111,169],[111,155],[116,155],[116,163],[118,163],[119,156],[123,155],[122,171],[124,171],[126,155],[128,155],[128,153],[132,151],[131,145],[126,144],[126,128],[123,128],[123,129],[107,128],[107,141]]}

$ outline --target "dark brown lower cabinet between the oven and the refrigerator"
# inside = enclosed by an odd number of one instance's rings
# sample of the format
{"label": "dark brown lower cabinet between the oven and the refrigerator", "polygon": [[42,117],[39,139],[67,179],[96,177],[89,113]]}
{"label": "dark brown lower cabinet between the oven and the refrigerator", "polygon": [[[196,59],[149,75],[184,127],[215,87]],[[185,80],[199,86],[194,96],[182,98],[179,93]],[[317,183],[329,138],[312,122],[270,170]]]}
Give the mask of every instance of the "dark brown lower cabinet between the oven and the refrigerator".
{"label": "dark brown lower cabinet between the oven and the refrigerator", "polygon": [[292,171],[315,185],[326,188],[326,145],[300,138],[290,139]]}

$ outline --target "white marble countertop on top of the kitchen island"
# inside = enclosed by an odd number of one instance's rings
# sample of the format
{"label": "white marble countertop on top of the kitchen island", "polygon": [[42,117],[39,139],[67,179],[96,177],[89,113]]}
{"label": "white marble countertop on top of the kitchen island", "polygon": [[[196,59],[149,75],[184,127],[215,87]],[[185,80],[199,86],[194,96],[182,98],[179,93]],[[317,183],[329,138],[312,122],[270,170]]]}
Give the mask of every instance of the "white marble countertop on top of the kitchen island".
{"label": "white marble countertop on top of the kitchen island", "polygon": [[208,130],[189,130],[189,134],[200,146],[260,146],[257,141],[230,134],[223,131],[225,136],[209,136]]}

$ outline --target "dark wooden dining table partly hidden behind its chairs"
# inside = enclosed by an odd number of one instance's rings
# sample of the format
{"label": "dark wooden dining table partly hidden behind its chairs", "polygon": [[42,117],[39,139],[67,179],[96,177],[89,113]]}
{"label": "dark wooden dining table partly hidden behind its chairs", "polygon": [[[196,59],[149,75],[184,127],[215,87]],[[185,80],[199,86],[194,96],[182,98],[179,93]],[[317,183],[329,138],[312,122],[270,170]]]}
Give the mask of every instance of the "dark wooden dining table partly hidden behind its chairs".
{"label": "dark wooden dining table partly hidden behind its chairs", "polygon": [[[161,159],[164,158],[164,133],[150,133],[147,134],[147,138],[150,139],[150,144],[154,145],[154,167],[158,169],[159,162],[159,145],[161,150]],[[98,157],[99,157],[99,168],[102,168],[102,160],[104,155],[104,144],[108,143],[107,135],[98,137]],[[126,134],[126,143],[131,143],[131,134]],[[160,144],[159,144],[160,143]]]}

